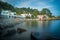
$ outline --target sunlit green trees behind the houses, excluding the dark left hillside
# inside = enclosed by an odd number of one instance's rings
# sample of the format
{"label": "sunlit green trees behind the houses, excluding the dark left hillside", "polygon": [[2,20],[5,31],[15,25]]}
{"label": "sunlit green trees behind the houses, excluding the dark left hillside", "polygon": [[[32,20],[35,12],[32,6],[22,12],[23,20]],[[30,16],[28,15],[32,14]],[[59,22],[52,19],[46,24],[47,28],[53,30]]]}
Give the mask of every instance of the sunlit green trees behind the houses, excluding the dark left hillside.
{"label": "sunlit green trees behind the houses, excluding the dark left hillside", "polygon": [[32,8],[15,8],[15,11],[18,15],[22,13],[30,13],[32,14],[32,18],[37,18],[37,15],[47,15],[50,18],[53,17],[52,13],[49,9],[43,8],[42,11],[38,11],[37,9],[32,9]]}

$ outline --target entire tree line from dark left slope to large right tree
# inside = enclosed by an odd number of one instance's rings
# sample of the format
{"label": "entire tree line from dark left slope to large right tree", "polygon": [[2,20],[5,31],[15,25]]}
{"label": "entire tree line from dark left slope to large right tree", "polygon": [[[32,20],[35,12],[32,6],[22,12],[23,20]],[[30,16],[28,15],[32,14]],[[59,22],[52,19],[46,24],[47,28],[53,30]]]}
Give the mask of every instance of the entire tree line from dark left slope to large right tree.
{"label": "entire tree line from dark left slope to large right tree", "polygon": [[[17,15],[20,15],[22,13],[27,13],[27,14],[30,13],[30,14],[32,14],[32,18],[37,18],[37,15],[47,15],[50,18],[55,17],[55,16],[52,16],[51,11],[47,8],[43,8],[41,11],[38,11],[37,9],[32,9],[30,7],[28,7],[28,8],[15,8],[11,4],[0,1],[0,13],[2,10],[15,11],[17,13]],[[30,18],[30,17],[26,17],[26,18]]]}

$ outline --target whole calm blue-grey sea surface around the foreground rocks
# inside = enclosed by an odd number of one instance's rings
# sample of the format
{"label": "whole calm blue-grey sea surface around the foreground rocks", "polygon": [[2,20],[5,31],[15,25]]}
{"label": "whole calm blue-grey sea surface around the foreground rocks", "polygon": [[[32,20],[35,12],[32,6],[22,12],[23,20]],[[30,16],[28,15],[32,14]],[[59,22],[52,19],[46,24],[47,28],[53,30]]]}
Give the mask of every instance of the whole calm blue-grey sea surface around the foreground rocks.
{"label": "whole calm blue-grey sea surface around the foreground rocks", "polygon": [[[31,33],[36,37],[47,37],[52,36],[54,38],[60,38],[60,20],[52,20],[52,21],[36,21],[36,20],[28,20],[24,21],[14,27],[8,29],[14,29],[17,31],[17,28],[26,29],[26,32],[23,33],[15,33],[12,36],[3,37],[8,40],[31,40]],[[37,34],[37,35],[36,35]]]}

